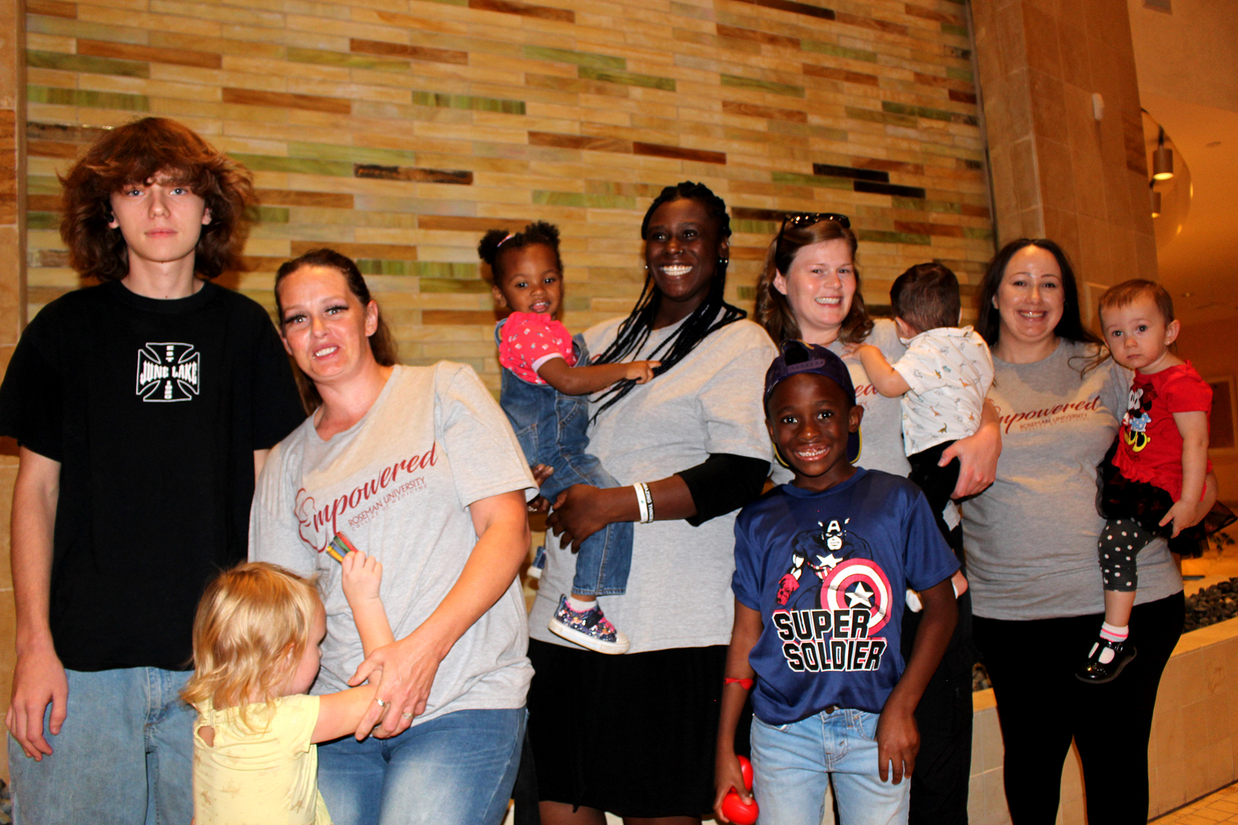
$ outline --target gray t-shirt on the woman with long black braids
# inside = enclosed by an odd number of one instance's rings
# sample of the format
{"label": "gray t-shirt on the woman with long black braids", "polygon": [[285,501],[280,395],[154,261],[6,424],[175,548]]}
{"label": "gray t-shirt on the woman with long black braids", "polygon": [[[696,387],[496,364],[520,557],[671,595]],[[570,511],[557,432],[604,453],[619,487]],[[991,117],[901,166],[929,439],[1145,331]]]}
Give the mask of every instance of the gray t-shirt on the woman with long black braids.
{"label": "gray t-shirt on the woman with long black braids", "polygon": [[[620,320],[584,333],[591,353],[602,353],[615,339]],[[677,327],[655,330],[634,360],[647,359]],[[756,324],[739,320],[723,327],[675,369],[602,413],[589,430],[589,453],[623,485],[665,479],[703,463],[711,453],[771,460],[761,390],[774,356],[774,344]],[[630,652],[730,642],[734,524],[735,513],[728,513],[699,527],[686,521],[634,526],[628,591],[600,599],[607,617],[631,639]],[[546,630],[574,570],[571,552],[547,538],[530,635],[574,647]]]}

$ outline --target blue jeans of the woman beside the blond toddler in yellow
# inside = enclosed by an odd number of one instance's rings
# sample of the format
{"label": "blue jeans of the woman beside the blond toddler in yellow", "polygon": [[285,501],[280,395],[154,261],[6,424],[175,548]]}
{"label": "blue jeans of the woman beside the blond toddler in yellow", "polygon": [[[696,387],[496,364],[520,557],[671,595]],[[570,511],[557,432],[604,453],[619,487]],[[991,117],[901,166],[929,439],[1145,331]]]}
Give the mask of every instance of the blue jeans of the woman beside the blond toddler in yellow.
{"label": "blue jeans of the woman beside the blond toddler in yellow", "polygon": [[524,707],[457,710],[389,740],[318,746],[335,825],[499,825],[525,737]]}

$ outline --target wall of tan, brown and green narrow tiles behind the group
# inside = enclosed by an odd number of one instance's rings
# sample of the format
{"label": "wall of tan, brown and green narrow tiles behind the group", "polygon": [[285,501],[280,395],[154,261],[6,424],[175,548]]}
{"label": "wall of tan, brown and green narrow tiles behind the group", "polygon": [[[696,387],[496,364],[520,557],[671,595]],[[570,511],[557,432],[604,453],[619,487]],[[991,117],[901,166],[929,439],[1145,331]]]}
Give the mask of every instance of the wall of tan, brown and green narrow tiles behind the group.
{"label": "wall of tan, brown and green narrow tiles behind the group", "polygon": [[78,286],[57,171],[98,127],[176,118],[256,176],[250,273],[363,261],[401,357],[491,386],[491,226],[557,223],[565,320],[626,313],[640,218],[702,179],[734,212],[751,306],[785,209],[851,214],[872,303],[930,259],[977,280],[992,226],[966,6],[826,0],[28,0],[28,309]]}

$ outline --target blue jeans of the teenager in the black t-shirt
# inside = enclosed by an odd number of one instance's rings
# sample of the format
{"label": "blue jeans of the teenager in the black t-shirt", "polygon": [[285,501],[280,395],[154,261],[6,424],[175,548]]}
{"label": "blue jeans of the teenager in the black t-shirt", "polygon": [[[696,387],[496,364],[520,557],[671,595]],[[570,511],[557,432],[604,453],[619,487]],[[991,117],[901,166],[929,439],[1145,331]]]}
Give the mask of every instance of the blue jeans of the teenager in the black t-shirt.
{"label": "blue jeans of the teenager in the black t-shirt", "polygon": [[192,672],[66,670],[68,717],[52,754],[27,758],[9,737],[17,825],[187,825],[193,816],[193,722],[178,691]]}

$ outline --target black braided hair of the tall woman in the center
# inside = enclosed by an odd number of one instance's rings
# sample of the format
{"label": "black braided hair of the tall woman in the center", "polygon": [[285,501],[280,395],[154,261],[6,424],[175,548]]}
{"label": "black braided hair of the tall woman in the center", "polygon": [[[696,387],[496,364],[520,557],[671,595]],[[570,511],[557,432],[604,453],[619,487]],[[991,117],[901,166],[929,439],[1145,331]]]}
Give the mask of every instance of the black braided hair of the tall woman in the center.
{"label": "black braided hair of the tall woman in the center", "polygon": [[[664,203],[680,199],[696,200],[703,205],[706,212],[718,223],[719,239],[730,237],[730,215],[727,214],[727,202],[716,195],[706,184],[685,181],[662,189],[661,194],[650,204],[649,212],[645,213],[645,220],[640,224],[641,240],[645,240],[649,235],[649,221],[654,216],[654,213],[657,212],[657,208]],[[747,312],[723,299],[727,289],[728,262],[718,262],[713,280],[709,282],[709,292],[704,301],[701,302],[701,306],[683,320],[673,335],[659,344],[657,349],[646,356],[649,360],[662,362],[660,367],[654,370],[655,377],[670,371],[711,333],[748,317]],[[662,291],[657,288],[652,273],[649,273],[645,276],[645,287],[641,289],[640,298],[636,299],[636,306],[633,307],[631,313],[619,324],[619,334],[615,336],[615,340],[598,356],[595,362],[615,364],[623,361],[633,353],[639,353],[645,341],[649,340],[649,335],[654,329],[654,319],[657,317],[657,309],[661,303]],[[619,403],[635,386],[636,382],[630,380],[612,385],[594,400],[605,400],[605,403],[598,407],[593,418],[597,419],[602,411]]]}

